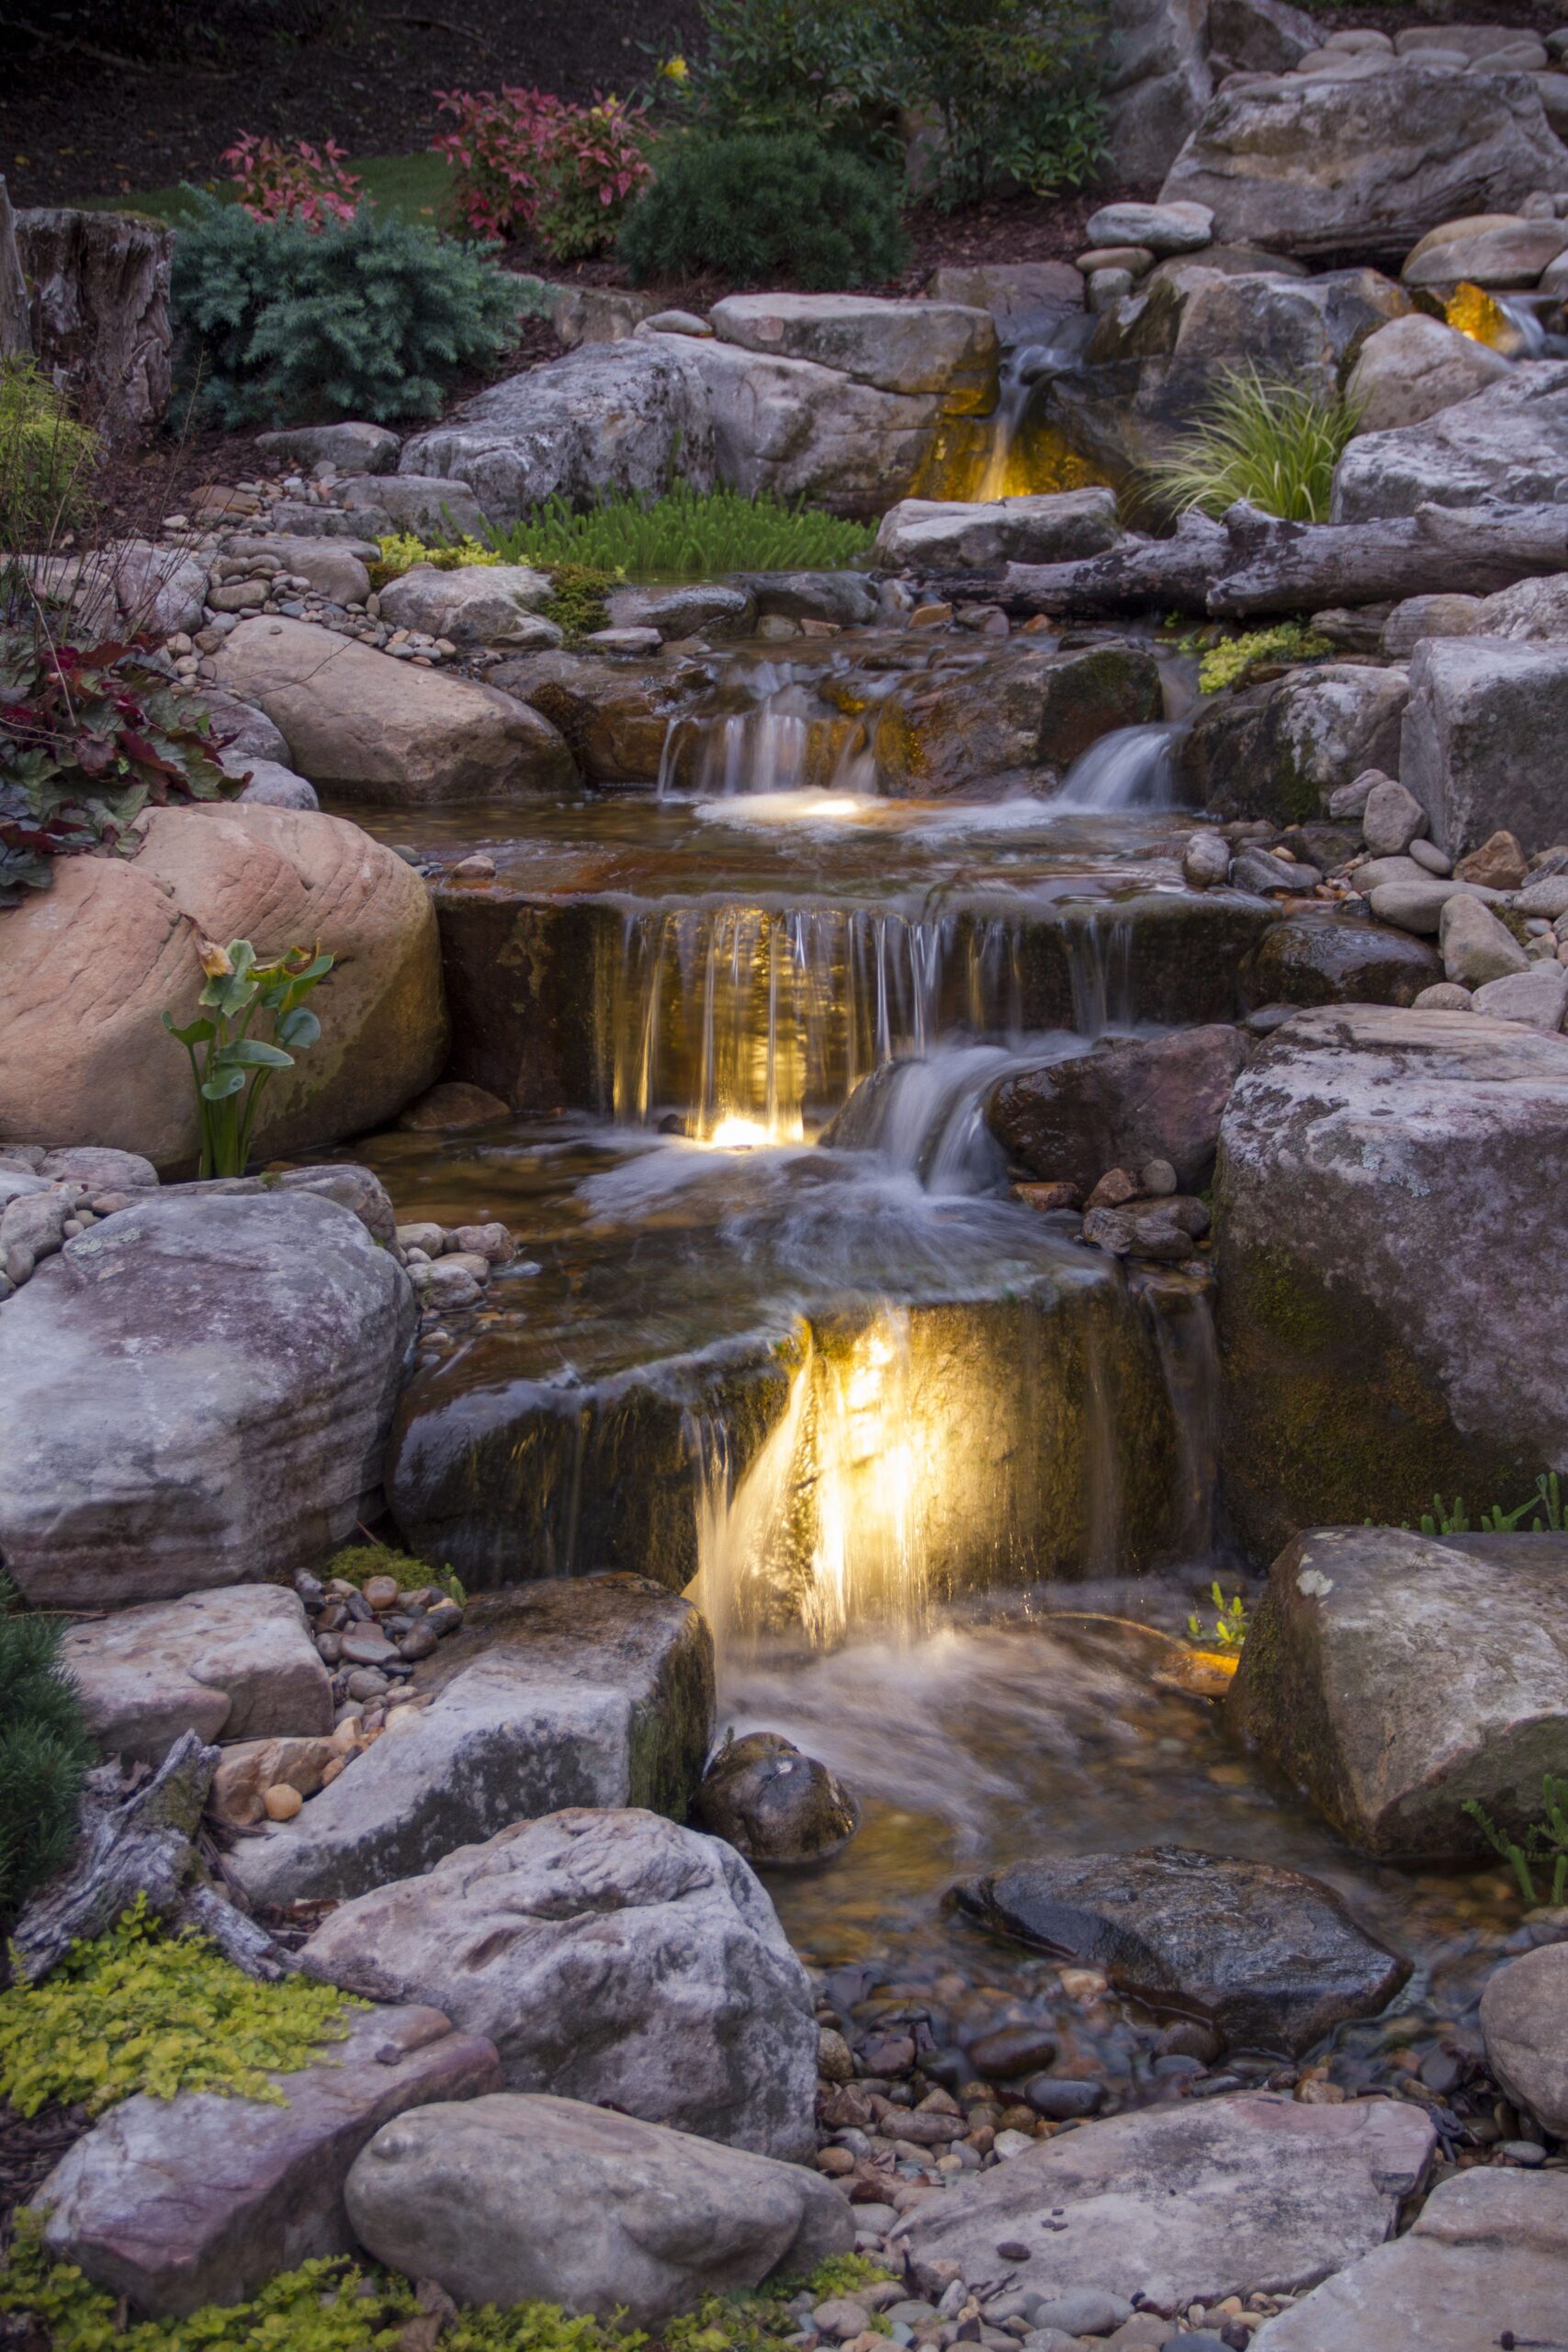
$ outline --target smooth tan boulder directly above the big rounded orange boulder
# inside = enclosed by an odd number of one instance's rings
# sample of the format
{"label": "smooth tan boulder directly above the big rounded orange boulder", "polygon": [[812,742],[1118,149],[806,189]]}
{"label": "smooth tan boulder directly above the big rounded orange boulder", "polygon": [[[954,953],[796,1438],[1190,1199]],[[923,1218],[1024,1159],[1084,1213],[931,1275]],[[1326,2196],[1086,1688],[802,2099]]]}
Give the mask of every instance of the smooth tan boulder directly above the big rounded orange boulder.
{"label": "smooth tan boulder directly above the big rounded orange boulder", "polygon": [[313,621],[240,621],[214,675],[266,710],[301,776],[341,797],[423,804],[576,781],[571,753],[538,710]]}

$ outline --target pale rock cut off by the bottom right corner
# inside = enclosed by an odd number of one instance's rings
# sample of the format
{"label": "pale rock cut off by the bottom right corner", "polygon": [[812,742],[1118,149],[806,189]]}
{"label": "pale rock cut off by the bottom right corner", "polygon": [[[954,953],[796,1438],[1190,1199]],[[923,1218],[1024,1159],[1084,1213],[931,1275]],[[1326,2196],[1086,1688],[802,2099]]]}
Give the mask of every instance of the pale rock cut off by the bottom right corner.
{"label": "pale rock cut off by the bottom right corner", "polygon": [[1253,2336],[1258,2352],[1366,2352],[1399,2312],[1422,2352],[1549,2345],[1568,2305],[1568,2176],[1448,2173],[1406,2237],[1326,2279]]}

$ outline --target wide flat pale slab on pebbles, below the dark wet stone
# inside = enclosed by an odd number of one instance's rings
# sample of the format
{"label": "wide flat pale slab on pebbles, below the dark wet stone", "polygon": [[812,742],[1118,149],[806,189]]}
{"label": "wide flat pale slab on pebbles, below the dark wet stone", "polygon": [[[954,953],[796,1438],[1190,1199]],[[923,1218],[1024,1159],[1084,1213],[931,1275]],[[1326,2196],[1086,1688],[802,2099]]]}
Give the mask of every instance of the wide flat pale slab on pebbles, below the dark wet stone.
{"label": "wide flat pale slab on pebbles, below the dark wet stone", "polygon": [[[1425,2178],[1434,2129],[1415,2105],[1302,2105],[1272,2091],[1140,2107],[969,2176],[905,2220],[922,2263],[1023,2293],[1093,2286],[1161,2312],[1300,2293],[1371,2253]],[[1359,2347],[1371,2352],[1371,2347]]]}

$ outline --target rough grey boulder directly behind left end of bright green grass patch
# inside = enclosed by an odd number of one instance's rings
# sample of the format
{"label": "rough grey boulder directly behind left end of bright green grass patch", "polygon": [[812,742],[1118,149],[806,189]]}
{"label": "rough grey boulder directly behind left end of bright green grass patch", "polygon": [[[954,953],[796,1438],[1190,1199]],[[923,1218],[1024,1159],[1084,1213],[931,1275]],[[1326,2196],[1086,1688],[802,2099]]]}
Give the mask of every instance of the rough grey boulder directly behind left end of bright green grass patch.
{"label": "rough grey boulder directly behind left end of bright green grass patch", "polygon": [[583,343],[505,376],[404,442],[400,468],[470,482],[491,522],[545,499],[592,506],[607,492],[661,492],[677,468],[712,489],[712,419],[689,341]]}

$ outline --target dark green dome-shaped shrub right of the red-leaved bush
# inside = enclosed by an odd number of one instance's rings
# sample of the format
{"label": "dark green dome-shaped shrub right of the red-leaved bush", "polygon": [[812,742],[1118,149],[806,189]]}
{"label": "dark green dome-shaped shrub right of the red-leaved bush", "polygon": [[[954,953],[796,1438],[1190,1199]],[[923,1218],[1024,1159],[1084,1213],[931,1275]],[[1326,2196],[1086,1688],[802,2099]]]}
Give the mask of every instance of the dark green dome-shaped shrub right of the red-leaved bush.
{"label": "dark green dome-shaped shrub right of the red-leaved bush", "polygon": [[806,132],[675,146],[621,230],[639,285],[717,270],[731,285],[858,287],[896,278],[905,254],[893,179]]}

